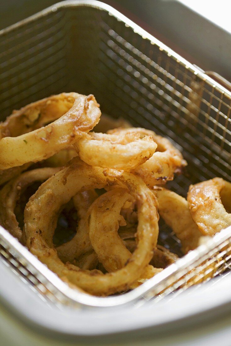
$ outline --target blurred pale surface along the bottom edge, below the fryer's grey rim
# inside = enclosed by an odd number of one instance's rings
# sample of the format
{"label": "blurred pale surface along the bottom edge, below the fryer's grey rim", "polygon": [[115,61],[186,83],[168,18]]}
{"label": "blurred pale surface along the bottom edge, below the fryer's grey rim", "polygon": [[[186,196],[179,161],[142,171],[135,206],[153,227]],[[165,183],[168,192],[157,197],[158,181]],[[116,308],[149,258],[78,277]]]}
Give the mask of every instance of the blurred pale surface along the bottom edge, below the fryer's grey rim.
{"label": "blurred pale surface along the bottom edge, below the fryer's grey rim", "polygon": [[97,339],[95,342],[87,340],[73,340],[67,342],[45,337],[25,327],[20,321],[15,320],[3,307],[0,307],[0,345],[1,346],[69,346],[69,345],[97,345],[97,346],[230,346],[231,345],[231,316],[219,318],[210,324],[200,327],[184,329],[177,333],[171,332],[161,337],[149,336],[136,338],[136,340],[117,340],[110,337],[106,340]]}

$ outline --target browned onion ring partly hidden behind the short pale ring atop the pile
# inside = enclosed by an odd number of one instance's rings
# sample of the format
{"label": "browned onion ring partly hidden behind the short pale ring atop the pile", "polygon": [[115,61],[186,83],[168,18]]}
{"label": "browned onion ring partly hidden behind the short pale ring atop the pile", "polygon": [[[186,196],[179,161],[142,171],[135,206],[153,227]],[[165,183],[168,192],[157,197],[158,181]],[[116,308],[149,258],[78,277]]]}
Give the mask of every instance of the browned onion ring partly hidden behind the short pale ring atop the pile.
{"label": "browned onion ring partly hidden behind the short pale ring atop the pile", "polygon": [[180,151],[164,137],[156,135],[153,131],[143,128],[114,129],[108,131],[109,134],[119,135],[126,133],[149,135],[157,143],[157,151],[139,167],[134,173],[139,175],[148,186],[164,184],[174,178],[174,173],[181,172],[182,167],[187,163],[183,159]]}

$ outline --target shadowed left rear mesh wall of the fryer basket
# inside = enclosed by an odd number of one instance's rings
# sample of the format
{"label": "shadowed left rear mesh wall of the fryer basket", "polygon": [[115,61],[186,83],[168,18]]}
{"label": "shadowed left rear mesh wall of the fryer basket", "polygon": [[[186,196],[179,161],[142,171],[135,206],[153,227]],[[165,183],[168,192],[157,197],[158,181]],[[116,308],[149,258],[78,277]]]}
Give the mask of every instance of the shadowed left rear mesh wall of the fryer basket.
{"label": "shadowed left rear mesh wall of the fryer basket", "polygon": [[1,35],[1,119],[28,101],[55,93],[67,84],[62,11]]}

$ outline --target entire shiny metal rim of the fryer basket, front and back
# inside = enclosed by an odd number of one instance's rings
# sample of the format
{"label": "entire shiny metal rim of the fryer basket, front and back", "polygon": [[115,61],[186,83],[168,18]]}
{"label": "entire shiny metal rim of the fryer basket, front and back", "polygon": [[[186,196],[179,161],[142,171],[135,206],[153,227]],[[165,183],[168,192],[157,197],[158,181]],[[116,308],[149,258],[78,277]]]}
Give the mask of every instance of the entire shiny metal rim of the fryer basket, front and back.
{"label": "entire shiny metal rim of the fryer basket, front and back", "polygon": [[[80,1],[62,1],[57,4],[44,9],[37,14],[30,16],[24,20],[19,21],[16,24],[13,24],[6,29],[0,31],[0,36],[5,35],[19,27],[26,25],[29,22],[32,22],[36,19],[47,16],[48,14],[54,13],[57,10],[70,8],[70,7],[93,7],[99,10],[104,10],[108,12],[109,15],[114,16],[118,21],[122,21],[127,27],[131,27],[133,31],[143,39],[148,39],[152,44],[155,44],[159,47],[161,51],[165,51],[168,55],[172,56],[178,63],[183,65],[186,69],[192,71],[195,75],[198,75],[199,78],[205,80],[208,84],[212,85],[216,90],[221,93],[225,93],[228,97],[231,98],[231,92],[225,89],[218,82],[214,81],[212,78],[208,77],[206,74],[201,72],[197,67],[189,63],[183,57],[172,51],[169,47],[164,45],[154,36],[146,32],[140,26],[136,25],[133,21],[126,18],[122,13],[114,9],[113,7],[97,0],[80,0]],[[124,293],[123,295],[118,295],[116,297],[94,297],[89,294],[80,292],[78,290],[71,289],[68,284],[64,283],[56,274],[50,271],[43,263],[41,263],[33,254],[31,254],[26,247],[21,245],[16,238],[9,234],[7,230],[0,226],[0,242],[6,244],[13,251],[16,251],[24,260],[26,260],[30,265],[32,265],[35,270],[41,273],[46,283],[50,283],[54,290],[61,292],[68,299],[75,301],[81,305],[85,306],[95,306],[95,307],[112,307],[117,305],[122,305],[137,301],[154,288],[158,287],[161,283],[164,283],[172,275],[180,273],[185,268],[194,264],[203,256],[207,255],[208,252],[215,249],[217,246],[221,245],[225,240],[231,238],[231,226],[222,230],[220,233],[216,234],[214,237],[208,239],[205,244],[197,247],[194,251],[189,252],[184,257],[177,260],[176,263],[167,267],[161,273],[158,273],[153,278],[149,279],[147,282],[143,283],[138,288],[134,289],[131,292]],[[144,298],[144,297],[143,297]]]}

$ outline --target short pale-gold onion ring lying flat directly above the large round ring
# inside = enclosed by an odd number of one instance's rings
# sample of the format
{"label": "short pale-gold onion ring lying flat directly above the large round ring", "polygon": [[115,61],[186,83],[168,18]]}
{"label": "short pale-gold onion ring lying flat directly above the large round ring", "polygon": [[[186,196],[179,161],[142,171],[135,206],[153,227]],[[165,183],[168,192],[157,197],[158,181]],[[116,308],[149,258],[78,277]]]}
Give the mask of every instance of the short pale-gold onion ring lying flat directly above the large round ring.
{"label": "short pale-gold onion ring lying flat directly above the large round ring", "polygon": [[74,148],[81,160],[91,166],[129,171],[148,160],[157,144],[151,136],[131,133],[128,129],[116,135],[85,134],[74,143]]}

